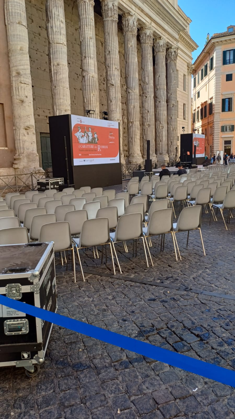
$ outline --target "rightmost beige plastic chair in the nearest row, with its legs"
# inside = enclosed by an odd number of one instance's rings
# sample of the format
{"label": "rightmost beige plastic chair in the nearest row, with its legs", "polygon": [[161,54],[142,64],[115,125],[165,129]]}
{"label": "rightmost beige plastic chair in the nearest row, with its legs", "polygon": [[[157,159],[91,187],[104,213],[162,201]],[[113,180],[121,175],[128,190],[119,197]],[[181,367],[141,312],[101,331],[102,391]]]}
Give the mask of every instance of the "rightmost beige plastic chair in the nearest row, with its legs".
{"label": "rightmost beige plastic chair in the nearest row, with its legs", "polygon": [[189,243],[189,231],[199,230],[203,253],[204,256],[206,256],[204,243],[202,240],[202,207],[200,205],[194,205],[194,207],[183,208],[179,215],[177,223],[173,224],[173,227],[175,233],[179,233],[180,231],[188,232],[186,247],[188,247]]}

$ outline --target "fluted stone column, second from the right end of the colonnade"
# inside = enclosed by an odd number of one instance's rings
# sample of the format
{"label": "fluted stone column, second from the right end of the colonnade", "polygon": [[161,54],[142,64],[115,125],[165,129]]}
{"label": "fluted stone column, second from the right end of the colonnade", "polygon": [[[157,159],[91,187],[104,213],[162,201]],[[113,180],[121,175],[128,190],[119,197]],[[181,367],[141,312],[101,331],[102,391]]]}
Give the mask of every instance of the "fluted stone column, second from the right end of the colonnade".
{"label": "fluted stone column, second from the right end of the colonnade", "polygon": [[167,109],[166,109],[166,41],[156,39],[155,96],[156,96],[156,150],[158,163],[169,162],[167,153]]}

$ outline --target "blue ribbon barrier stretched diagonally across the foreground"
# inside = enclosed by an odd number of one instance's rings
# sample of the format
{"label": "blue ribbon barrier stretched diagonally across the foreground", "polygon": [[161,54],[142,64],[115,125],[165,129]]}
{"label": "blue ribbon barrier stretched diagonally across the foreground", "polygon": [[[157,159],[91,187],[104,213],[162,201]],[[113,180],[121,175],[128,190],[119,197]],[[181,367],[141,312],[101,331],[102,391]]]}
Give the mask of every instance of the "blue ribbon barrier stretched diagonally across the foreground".
{"label": "blue ribbon barrier stretched diagonally across the foreground", "polygon": [[119,333],[111,332],[97,326],[92,326],[91,324],[83,323],[79,320],[61,316],[61,314],[52,313],[51,311],[43,310],[42,308],[34,307],[33,305],[12,300],[3,295],[0,295],[0,304],[22,311],[30,316],[57,324],[66,329],[73,330],[74,332],[138,353],[153,360],[181,368],[181,370],[192,372],[219,383],[235,387],[234,370],[228,370],[227,368],[218,367],[217,365],[178,354],[177,352],[172,352],[168,349],[159,348],[147,342],[129,338],[128,336],[123,336]]}

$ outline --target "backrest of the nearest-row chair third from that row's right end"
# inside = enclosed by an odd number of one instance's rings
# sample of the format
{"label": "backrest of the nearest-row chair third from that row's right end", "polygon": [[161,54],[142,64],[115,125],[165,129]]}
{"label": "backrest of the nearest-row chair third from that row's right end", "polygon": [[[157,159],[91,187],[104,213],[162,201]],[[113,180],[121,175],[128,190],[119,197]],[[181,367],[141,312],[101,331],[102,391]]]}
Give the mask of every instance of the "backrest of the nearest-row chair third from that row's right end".
{"label": "backrest of the nearest-row chair third from that row's right end", "polygon": [[115,231],[115,241],[126,241],[143,235],[142,216],[139,212],[119,218]]}

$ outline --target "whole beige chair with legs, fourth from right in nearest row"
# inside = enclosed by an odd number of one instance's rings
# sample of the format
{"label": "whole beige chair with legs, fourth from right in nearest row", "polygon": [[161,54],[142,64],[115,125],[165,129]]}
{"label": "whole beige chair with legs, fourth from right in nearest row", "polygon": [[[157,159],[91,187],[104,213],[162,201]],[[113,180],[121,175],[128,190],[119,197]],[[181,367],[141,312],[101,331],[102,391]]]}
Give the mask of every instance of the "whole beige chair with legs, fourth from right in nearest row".
{"label": "whole beige chair with legs, fourth from right in nearest row", "polygon": [[[85,221],[82,226],[82,231],[81,231],[79,239],[73,238],[73,242],[75,243],[76,248],[77,248],[77,256],[79,259],[79,264],[80,264],[82,277],[84,281],[85,281],[85,278],[84,278],[82,263],[81,263],[81,259],[79,255],[79,250],[82,248],[104,246],[108,244],[110,246],[110,251],[111,251],[111,256],[112,256],[113,271],[114,271],[114,274],[116,274],[113,255],[112,255],[112,246],[110,242],[109,221],[107,218],[93,218],[92,220]],[[117,258],[116,251],[115,251],[115,256]],[[118,259],[117,259],[117,264],[119,266]]]}

